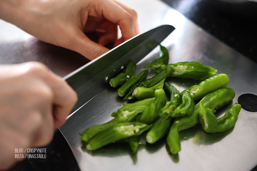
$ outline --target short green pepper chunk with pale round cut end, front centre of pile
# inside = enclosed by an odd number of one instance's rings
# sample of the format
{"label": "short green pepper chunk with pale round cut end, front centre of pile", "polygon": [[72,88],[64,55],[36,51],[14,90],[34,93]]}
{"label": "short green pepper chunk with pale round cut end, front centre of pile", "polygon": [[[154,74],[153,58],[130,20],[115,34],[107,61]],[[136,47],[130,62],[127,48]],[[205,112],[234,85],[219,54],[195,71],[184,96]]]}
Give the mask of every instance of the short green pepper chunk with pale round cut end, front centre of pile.
{"label": "short green pepper chunk with pale round cut end, front centre of pile", "polygon": [[159,117],[150,127],[149,131],[146,133],[147,143],[153,144],[156,141],[164,137],[170,128],[172,117],[164,118]]}

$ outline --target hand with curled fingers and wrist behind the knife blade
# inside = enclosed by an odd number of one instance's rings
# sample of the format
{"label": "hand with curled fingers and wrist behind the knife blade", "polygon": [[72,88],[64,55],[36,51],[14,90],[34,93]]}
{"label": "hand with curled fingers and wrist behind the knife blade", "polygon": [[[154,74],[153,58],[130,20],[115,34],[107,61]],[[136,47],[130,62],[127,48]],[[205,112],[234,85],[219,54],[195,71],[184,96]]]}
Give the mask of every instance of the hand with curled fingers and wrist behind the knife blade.
{"label": "hand with curled fingers and wrist behind the knife blade", "polygon": [[[89,60],[107,52],[105,44],[115,42],[117,46],[139,33],[136,12],[114,0],[0,0],[0,3],[0,18],[42,41],[79,52]],[[118,25],[122,33],[119,40]],[[95,43],[85,32],[98,32],[101,36]]]}

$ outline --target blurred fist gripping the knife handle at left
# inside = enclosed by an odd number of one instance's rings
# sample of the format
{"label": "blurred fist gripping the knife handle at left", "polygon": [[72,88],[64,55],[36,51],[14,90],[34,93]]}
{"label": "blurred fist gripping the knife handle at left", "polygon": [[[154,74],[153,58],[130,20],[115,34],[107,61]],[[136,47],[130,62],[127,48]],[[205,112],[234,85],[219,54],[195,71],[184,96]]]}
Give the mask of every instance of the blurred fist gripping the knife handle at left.
{"label": "blurred fist gripping the knife handle at left", "polygon": [[22,160],[15,148],[50,143],[76,101],[67,82],[41,63],[0,65],[0,170]]}

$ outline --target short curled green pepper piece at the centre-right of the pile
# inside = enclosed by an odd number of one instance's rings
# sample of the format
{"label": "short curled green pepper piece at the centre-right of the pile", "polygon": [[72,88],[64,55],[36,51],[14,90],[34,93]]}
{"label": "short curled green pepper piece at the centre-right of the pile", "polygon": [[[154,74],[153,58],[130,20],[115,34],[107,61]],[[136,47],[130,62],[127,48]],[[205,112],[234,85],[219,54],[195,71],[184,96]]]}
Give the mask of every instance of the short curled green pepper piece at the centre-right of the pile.
{"label": "short curled green pepper piece at the centre-right of the pile", "polygon": [[182,103],[174,109],[171,113],[171,117],[180,117],[184,115],[190,115],[194,110],[194,100],[190,95],[190,91],[186,90],[181,93]]}

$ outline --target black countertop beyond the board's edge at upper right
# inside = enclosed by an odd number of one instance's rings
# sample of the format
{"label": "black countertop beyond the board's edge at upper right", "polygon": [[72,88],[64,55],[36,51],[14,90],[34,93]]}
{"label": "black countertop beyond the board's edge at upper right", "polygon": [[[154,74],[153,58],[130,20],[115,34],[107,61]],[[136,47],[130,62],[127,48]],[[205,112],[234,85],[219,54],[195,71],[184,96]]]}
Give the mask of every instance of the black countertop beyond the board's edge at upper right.
{"label": "black countertop beyond the board's edge at upper right", "polygon": [[162,1],[257,63],[257,0]]}

